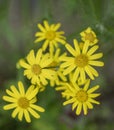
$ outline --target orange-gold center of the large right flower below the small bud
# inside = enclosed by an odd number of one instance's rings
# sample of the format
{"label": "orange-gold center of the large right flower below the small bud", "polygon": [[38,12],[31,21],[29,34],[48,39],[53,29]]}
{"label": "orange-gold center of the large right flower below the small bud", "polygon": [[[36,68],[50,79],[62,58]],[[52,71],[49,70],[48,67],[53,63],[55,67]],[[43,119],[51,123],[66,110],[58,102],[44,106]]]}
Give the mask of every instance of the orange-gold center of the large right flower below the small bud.
{"label": "orange-gold center of the large right flower below the small bud", "polygon": [[75,64],[78,67],[85,67],[88,64],[88,57],[86,55],[80,54],[75,58]]}

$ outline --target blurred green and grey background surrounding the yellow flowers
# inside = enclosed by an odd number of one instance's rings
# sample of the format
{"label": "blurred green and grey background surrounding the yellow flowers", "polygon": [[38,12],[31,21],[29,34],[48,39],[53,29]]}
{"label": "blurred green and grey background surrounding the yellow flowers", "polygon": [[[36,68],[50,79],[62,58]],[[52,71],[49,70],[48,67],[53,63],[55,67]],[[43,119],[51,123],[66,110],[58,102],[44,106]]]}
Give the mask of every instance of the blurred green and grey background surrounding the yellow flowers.
{"label": "blurred green and grey background surrounding the yellow flowers", "polygon": [[[44,19],[60,22],[71,43],[88,26],[96,32],[105,62],[95,81],[101,86],[101,105],[87,116],[76,116],[71,106],[62,106],[60,93],[47,87],[38,99],[46,112],[28,124],[2,109],[2,96],[11,84],[24,80],[16,63],[38,46],[34,34]],[[0,130],[114,130],[114,0],[0,0]]]}

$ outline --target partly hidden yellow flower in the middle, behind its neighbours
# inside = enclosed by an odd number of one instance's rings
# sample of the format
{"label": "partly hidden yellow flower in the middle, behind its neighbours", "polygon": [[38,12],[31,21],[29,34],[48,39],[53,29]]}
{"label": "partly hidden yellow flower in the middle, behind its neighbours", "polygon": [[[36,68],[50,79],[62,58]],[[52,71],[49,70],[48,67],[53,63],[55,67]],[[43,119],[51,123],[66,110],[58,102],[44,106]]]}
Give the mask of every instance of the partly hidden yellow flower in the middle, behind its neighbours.
{"label": "partly hidden yellow flower in the middle, behind its neighbours", "polygon": [[50,50],[50,57],[53,59],[52,63],[49,65],[50,68],[55,70],[55,78],[53,80],[50,80],[50,85],[53,87],[54,85],[59,85],[60,81],[66,81],[66,76],[63,75],[63,69],[60,68],[60,58],[64,58],[66,56],[66,53],[63,53],[60,55],[61,50],[57,48],[56,51]]}

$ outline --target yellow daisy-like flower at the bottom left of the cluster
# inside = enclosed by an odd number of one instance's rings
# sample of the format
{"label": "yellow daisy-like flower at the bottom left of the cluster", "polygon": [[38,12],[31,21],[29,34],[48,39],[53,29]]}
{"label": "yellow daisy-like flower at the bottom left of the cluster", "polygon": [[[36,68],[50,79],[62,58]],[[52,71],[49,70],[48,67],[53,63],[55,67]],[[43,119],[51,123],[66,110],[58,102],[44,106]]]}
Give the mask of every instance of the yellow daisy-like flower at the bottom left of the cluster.
{"label": "yellow daisy-like flower at the bottom left of the cluster", "polygon": [[40,118],[40,115],[36,112],[44,112],[44,108],[35,105],[37,101],[36,95],[38,94],[38,88],[31,85],[25,92],[23,83],[18,82],[18,89],[11,85],[11,90],[6,89],[7,96],[3,96],[3,100],[9,102],[8,105],[3,107],[4,110],[14,109],[12,112],[12,117],[16,116],[20,121],[23,117],[27,122],[31,122],[30,114],[35,118]]}

